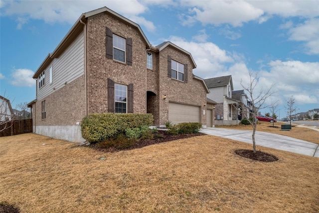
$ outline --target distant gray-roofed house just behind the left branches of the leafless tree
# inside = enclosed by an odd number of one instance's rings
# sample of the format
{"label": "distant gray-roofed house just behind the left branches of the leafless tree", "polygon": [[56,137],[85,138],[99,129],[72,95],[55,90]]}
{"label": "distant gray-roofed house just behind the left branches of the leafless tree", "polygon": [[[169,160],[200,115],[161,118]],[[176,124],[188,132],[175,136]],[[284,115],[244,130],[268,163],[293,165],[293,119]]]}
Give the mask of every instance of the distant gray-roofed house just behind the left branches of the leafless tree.
{"label": "distant gray-roofed house just behind the left branches of the leafless tree", "polygon": [[232,98],[238,100],[238,120],[250,117],[251,101],[244,90],[235,90],[231,92]]}

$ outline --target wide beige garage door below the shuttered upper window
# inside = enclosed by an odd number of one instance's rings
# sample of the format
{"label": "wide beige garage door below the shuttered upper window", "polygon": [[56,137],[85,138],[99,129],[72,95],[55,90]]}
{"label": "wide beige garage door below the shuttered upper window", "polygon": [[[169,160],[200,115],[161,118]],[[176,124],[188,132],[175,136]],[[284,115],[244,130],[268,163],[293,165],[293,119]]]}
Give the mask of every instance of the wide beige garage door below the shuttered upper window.
{"label": "wide beige garage door below the shuttered upper window", "polygon": [[200,107],[187,104],[168,103],[168,120],[172,124],[183,122],[199,122]]}

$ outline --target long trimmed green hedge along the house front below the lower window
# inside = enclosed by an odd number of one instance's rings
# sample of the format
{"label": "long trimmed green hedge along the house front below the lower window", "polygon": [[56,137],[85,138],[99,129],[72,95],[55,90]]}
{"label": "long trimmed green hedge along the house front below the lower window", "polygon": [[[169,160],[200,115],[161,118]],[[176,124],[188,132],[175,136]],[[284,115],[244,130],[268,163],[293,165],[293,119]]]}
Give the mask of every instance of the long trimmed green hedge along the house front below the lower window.
{"label": "long trimmed green hedge along the house front below the lower window", "polygon": [[[126,130],[151,126],[152,114],[91,114],[82,119],[82,137],[92,143],[116,138],[120,134],[126,134]],[[130,130],[128,130],[130,131]]]}

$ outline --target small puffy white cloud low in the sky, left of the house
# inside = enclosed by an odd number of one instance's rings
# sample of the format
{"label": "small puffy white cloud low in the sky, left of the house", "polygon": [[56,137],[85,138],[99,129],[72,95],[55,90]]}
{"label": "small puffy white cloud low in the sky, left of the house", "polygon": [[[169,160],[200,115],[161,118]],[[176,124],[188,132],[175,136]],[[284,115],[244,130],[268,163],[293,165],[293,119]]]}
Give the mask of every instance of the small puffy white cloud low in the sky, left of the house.
{"label": "small puffy white cloud low in the sky, left of the house", "polygon": [[32,87],[35,85],[33,74],[34,72],[30,69],[14,69],[9,83],[14,86]]}

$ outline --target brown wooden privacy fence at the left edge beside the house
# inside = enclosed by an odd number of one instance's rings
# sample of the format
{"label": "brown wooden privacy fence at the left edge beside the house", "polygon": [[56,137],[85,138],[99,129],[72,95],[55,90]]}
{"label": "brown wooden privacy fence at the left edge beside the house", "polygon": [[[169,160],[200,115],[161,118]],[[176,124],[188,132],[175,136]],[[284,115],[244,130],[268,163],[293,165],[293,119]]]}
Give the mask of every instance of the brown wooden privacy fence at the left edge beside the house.
{"label": "brown wooden privacy fence at the left edge beside the house", "polygon": [[8,121],[0,125],[0,137],[32,132],[32,119]]}

